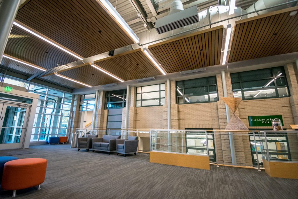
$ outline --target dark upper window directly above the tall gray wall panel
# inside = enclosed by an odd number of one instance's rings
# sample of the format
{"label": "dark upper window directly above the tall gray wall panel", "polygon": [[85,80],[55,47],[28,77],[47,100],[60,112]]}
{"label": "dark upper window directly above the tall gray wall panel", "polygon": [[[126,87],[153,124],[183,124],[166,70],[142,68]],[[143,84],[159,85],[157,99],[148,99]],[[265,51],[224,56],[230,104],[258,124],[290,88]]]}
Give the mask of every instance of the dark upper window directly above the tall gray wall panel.
{"label": "dark upper window directly above the tall gray wall panel", "polygon": [[126,106],[126,89],[105,92],[105,109],[121,109]]}

